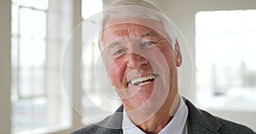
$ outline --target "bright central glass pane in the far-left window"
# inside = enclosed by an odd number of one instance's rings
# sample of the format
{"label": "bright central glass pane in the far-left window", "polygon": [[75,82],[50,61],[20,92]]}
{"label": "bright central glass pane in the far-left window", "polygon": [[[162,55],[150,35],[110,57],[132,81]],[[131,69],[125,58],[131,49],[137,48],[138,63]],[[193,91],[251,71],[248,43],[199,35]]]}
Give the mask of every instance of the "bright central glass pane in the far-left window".
{"label": "bright central glass pane in the far-left window", "polygon": [[45,62],[46,45],[42,40],[20,39],[20,67],[42,67]]}

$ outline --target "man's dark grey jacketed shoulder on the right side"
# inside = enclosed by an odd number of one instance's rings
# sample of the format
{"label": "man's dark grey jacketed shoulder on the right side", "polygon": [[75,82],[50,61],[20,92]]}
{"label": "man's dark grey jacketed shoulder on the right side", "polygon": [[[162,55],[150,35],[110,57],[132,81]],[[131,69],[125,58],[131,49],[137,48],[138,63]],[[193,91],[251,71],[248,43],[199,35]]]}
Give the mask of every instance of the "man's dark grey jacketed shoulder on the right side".
{"label": "man's dark grey jacketed shoulder on the right side", "polygon": [[188,100],[185,100],[189,109],[189,126],[191,131],[198,133],[206,131],[215,131],[219,133],[232,133],[232,134],[255,134],[255,132],[247,126],[242,126],[230,120],[224,120],[217,116],[208,113],[205,110],[197,109]]}

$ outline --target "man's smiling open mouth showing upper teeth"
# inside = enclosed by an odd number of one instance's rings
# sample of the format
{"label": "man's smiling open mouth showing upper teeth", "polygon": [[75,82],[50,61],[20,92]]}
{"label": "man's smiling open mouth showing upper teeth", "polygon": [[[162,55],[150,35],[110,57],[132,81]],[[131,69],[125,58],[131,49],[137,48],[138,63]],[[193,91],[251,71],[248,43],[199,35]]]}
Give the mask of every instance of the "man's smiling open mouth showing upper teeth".
{"label": "man's smiling open mouth showing upper teeth", "polygon": [[149,83],[151,83],[152,81],[154,81],[154,79],[157,77],[157,75],[152,74],[152,75],[146,75],[140,78],[136,78],[136,79],[132,79],[131,81],[129,81],[129,83],[131,85],[136,85],[136,86],[144,86],[147,85]]}

